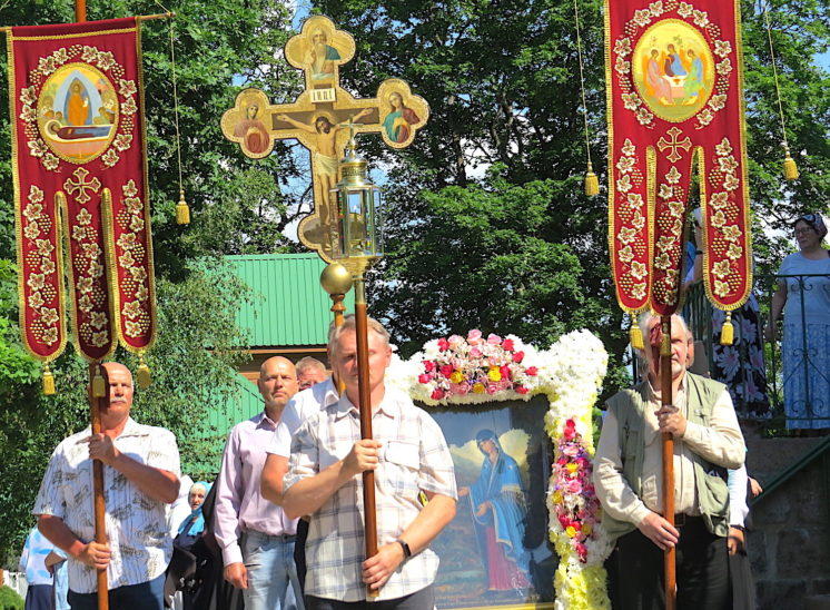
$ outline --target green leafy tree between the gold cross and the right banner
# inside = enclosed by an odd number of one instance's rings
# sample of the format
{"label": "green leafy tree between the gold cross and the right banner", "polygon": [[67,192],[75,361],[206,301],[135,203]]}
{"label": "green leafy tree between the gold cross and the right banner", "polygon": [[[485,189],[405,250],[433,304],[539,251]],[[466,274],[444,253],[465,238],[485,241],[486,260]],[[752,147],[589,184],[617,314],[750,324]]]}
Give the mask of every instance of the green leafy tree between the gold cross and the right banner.
{"label": "green leafy tree between the gold cross and the right banner", "polygon": [[[373,308],[412,353],[438,333],[521,335],[541,347],[586,327],[612,353],[625,333],[613,302],[603,198],[582,195],[586,158],[573,6],[555,1],[324,1],[357,40],[340,78],[367,95],[397,76],[431,105],[404,152],[362,147],[392,167],[385,267]],[[581,2],[602,23],[600,2]],[[583,32],[592,152],[604,139],[602,30]]]}

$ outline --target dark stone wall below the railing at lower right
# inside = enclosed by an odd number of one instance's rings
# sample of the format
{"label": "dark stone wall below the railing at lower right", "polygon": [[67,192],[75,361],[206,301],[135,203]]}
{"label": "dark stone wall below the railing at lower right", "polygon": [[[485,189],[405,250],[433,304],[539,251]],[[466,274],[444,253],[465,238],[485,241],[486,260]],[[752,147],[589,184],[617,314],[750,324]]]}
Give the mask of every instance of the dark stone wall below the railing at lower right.
{"label": "dark stone wall below the railing at lower right", "polygon": [[[821,439],[761,439],[744,430],[750,475],[763,486]],[[830,461],[819,457],[752,506],[749,555],[760,610],[812,610],[830,596]],[[830,598],[828,598],[830,599]]]}

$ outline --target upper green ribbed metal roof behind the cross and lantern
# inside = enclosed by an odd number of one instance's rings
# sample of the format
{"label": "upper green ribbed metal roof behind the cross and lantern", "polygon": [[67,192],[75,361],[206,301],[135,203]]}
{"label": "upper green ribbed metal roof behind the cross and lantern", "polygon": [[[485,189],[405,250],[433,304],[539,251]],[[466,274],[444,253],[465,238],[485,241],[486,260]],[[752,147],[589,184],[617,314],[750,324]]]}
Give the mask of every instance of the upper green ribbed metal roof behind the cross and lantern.
{"label": "upper green ribbed metal roof behind the cross and lantern", "polygon": [[[237,316],[250,332],[251,347],[325,345],[332,299],[320,287],[326,263],[316,254],[226,256],[237,275],[254,289]],[[344,302],[354,311],[354,293]]]}

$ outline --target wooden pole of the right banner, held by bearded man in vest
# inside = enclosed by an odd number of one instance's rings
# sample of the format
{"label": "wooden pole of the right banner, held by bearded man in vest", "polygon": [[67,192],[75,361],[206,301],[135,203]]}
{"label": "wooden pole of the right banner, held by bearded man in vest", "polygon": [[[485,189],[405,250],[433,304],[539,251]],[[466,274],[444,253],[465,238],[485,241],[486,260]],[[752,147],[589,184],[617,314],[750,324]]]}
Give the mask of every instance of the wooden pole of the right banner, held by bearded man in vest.
{"label": "wooden pole of the right banner, held by bearded man in vest", "polygon": [[[672,316],[660,317],[663,340],[660,345],[660,402],[671,406],[672,396]],[[674,439],[670,432],[662,434],[663,441],[663,518],[674,525]],[[676,549],[669,548],[663,557],[665,570],[665,610],[678,607]]]}

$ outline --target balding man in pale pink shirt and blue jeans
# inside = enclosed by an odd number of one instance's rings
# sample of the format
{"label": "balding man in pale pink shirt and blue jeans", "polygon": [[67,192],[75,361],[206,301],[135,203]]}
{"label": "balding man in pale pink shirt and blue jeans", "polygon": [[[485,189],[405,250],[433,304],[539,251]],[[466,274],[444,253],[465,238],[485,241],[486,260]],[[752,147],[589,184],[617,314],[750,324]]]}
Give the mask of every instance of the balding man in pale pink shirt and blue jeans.
{"label": "balding man in pale pink shirt and blue jeans", "polygon": [[216,482],[216,539],[225,580],[243,590],[246,610],[303,610],[294,563],[297,520],[260,493],[265,450],[297,392],[294,364],[281,356],[265,361],[257,385],[265,410],[234,426],[225,445]]}

